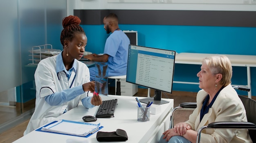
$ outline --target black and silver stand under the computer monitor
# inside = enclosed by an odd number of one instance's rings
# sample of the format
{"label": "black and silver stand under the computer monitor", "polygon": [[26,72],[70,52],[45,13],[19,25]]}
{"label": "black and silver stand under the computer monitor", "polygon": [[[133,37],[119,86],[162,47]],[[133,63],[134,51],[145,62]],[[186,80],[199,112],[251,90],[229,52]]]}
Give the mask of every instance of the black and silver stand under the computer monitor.
{"label": "black and silver stand under the computer monitor", "polygon": [[152,104],[157,104],[157,105],[169,103],[168,101],[161,99],[162,91],[156,91],[155,94],[156,95],[154,98],[143,98],[143,99],[140,99],[139,102],[148,104],[148,101],[150,101],[150,102],[153,102]]}

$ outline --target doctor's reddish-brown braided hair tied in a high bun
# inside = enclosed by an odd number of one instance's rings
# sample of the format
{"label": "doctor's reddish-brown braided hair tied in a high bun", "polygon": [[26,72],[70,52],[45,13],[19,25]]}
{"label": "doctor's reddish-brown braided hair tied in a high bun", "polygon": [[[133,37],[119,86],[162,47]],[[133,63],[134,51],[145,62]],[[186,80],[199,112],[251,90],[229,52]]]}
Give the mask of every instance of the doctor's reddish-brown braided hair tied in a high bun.
{"label": "doctor's reddish-brown braided hair tied in a high bun", "polygon": [[63,30],[61,31],[61,44],[64,47],[64,40],[72,41],[76,32],[85,33],[79,25],[81,20],[77,16],[70,15],[62,20]]}

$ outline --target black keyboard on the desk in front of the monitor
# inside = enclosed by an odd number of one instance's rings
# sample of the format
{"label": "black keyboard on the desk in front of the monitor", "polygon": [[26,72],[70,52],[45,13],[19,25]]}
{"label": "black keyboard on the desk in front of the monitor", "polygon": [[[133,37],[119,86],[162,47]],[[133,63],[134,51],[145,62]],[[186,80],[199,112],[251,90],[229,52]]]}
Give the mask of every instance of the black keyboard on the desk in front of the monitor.
{"label": "black keyboard on the desk in front of the monitor", "polygon": [[96,113],[96,118],[114,117],[117,99],[103,100]]}

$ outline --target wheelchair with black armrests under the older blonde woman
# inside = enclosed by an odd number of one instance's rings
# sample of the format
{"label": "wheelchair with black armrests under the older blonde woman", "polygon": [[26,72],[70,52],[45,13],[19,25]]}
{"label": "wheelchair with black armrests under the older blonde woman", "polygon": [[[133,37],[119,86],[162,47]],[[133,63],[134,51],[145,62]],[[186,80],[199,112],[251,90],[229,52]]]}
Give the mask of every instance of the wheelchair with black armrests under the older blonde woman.
{"label": "wheelchair with black armrests under the older blonde woman", "polygon": [[[238,90],[243,90],[243,91],[250,91],[250,88],[248,87],[233,87],[234,89]],[[245,106],[245,111],[246,111],[246,116],[247,116],[247,122],[242,122],[242,121],[221,121],[221,122],[213,122],[208,124],[207,126],[202,126],[198,130],[197,134],[197,140],[196,143],[200,143],[200,135],[202,130],[207,129],[207,128],[214,128],[214,129],[248,129],[249,131],[249,136],[252,139],[253,143],[256,143],[256,101],[252,100],[250,98],[247,98],[242,95],[238,95],[241,101],[243,102]],[[196,108],[196,103],[195,102],[184,102],[181,103],[179,106],[173,108],[172,110],[172,115],[171,115],[171,123],[170,123],[170,128],[173,128],[173,115],[174,112],[177,111],[178,109],[188,109],[188,110],[193,110]]]}

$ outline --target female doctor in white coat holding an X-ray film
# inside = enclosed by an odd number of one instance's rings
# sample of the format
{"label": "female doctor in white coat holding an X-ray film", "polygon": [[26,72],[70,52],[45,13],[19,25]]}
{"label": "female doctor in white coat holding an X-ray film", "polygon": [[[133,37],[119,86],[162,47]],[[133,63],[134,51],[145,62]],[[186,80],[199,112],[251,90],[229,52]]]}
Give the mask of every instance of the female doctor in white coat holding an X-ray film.
{"label": "female doctor in white coat holding an X-ray film", "polygon": [[76,107],[80,100],[85,108],[102,104],[99,95],[88,96],[89,91],[94,92],[94,81],[90,82],[88,67],[78,61],[87,44],[80,22],[77,16],[65,17],[61,32],[63,51],[38,63],[34,75],[36,107],[24,135]]}

